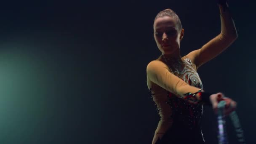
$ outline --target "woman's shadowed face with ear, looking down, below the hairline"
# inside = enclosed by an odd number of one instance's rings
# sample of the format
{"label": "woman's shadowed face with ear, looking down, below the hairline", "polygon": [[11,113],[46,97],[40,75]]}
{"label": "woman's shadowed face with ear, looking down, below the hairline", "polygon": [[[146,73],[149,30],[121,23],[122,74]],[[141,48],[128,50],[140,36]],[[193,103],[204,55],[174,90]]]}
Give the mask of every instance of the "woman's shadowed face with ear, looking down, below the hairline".
{"label": "woman's shadowed face with ear, looking down, below the hairline", "polygon": [[176,23],[176,19],[170,16],[157,18],[154,22],[155,41],[163,54],[179,53],[184,29],[179,30]]}

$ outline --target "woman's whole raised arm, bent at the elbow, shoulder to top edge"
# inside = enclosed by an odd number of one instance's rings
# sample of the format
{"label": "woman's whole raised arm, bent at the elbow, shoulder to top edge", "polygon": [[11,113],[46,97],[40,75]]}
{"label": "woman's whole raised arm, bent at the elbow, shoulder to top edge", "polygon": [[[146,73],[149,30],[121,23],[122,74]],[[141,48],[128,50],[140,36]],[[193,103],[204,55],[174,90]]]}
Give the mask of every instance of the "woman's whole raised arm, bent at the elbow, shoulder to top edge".
{"label": "woman's whole raised arm, bent at the elbow, shoulder to top edge", "polygon": [[221,17],[221,32],[202,48],[192,51],[187,55],[198,67],[213,59],[229,47],[237,39],[237,31],[225,0],[219,0]]}

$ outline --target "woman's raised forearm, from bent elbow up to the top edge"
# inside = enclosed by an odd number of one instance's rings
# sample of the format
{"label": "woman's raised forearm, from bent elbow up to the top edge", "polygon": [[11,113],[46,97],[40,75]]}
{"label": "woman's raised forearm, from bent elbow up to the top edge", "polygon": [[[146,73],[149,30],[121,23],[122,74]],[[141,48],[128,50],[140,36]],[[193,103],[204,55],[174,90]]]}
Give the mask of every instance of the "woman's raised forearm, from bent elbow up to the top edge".
{"label": "woman's raised forearm, from bent elbow up to the top edge", "polygon": [[221,16],[221,34],[229,39],[236,39],[237,31],[229,11],[229,5],[227,4],[226,0],[219,0],[218,5]]}

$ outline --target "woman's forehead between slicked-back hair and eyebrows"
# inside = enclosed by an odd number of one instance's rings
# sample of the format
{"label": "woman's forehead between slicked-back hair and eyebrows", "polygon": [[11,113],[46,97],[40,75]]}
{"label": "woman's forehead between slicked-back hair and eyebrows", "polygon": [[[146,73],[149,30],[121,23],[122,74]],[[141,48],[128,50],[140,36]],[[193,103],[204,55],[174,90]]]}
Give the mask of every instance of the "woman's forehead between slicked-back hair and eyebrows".
{"label": "woman's forehead between slicked-back hair and eyebrows", "polygon": [[154,22],[154,29],[176,28],[176,19],[170,16],[157,18]]}

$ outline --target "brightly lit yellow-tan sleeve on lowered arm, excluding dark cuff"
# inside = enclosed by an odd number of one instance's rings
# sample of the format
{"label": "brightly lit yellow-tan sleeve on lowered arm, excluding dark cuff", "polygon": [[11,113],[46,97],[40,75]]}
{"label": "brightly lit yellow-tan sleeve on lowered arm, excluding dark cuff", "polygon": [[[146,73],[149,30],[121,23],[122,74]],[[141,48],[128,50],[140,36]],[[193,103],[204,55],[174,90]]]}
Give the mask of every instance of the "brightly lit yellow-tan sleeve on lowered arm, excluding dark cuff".
{"label": "brightly lit yellow-tan sleeve on lowered arm, excluding dark cuff", "polygon": [[175,93],[182,98],[186,93],[196,93],[200,89],[191,86],[181,80],[176,75],[173,75],[166,64],[162,61],[151,61],[147,65],[147,77],[153,83],[159,85],[165,90]]}

